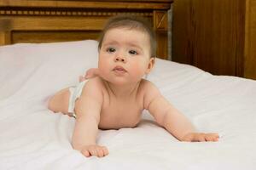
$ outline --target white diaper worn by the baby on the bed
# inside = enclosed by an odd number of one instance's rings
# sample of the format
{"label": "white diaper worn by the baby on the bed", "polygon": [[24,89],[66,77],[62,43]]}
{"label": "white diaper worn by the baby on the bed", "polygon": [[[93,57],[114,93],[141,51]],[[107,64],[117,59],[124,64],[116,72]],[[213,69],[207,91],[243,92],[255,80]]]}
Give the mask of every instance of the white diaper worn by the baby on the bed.
{"label": "white diaper worn by the baby on the bed", "polygon": [[84,88],[84,84],[87,82],[87,80],[83,82],[79,82],[77,86],[73,86],[69,88],[69,102],[68,102],[68,112],[71,113],[71,116],[76,117],[74,107],[75,107],[75,102],[79,97],[81,96]]}

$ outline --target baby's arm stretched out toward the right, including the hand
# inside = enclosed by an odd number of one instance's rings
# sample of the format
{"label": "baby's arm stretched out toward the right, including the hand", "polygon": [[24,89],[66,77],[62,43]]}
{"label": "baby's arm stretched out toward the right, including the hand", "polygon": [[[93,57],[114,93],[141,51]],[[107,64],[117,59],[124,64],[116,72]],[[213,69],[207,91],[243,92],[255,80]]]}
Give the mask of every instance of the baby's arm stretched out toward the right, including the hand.
{"label": "baby's arm stretched out toward the right, including the hand", "polygon": [[144,106],[154,116],[160,126],[165,127],[181,141],[218,141],[218,133],[197,133],[195,127],[182,113],[177,111],[154,87],[148,82],[145,88]]}

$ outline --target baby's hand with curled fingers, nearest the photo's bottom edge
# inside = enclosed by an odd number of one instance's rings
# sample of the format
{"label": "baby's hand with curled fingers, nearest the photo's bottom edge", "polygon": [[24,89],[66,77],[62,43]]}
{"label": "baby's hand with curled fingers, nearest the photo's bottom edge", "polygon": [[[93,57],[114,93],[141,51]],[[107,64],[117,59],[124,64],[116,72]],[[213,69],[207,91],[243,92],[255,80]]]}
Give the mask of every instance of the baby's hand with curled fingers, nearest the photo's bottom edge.
{"label": "baby's hand with curled fingers, nearest the photo's bottom edge", "polygon": [[97,156],[97,157],[103,157],[108,156],[108,149],[105,146],[100,146],[96,144],[86,145],[81,150],[81,153],[86,156]]}

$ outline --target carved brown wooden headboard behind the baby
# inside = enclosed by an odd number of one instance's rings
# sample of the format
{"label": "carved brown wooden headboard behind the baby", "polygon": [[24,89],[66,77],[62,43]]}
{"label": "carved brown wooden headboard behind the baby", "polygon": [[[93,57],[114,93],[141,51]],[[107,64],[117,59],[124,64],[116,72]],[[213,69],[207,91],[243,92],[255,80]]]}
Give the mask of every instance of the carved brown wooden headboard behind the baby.
{"label": "carved brown wooden headboard behind the baby", "polygon": [[0,45],[97,39],[109,17],[146,17],[156,32],[157,56],[168,57],[172,0],[0,0]]}

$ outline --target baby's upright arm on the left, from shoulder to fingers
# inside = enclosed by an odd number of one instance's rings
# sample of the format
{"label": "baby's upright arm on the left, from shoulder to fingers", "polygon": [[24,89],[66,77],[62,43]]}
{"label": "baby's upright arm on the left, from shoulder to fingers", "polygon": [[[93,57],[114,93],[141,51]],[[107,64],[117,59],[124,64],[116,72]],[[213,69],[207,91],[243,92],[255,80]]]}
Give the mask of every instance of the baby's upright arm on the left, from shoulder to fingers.
{"label": "baby's upright arm on the left, from shoulder to fingers", "polygon": [[95,83],[88,81],[83,94],[76,101],[77,114],[73,132],[73,149],[81,151],[86,156],[107,156],[108,149],[96,144],[100,112],[102,108],[102,94]]}

